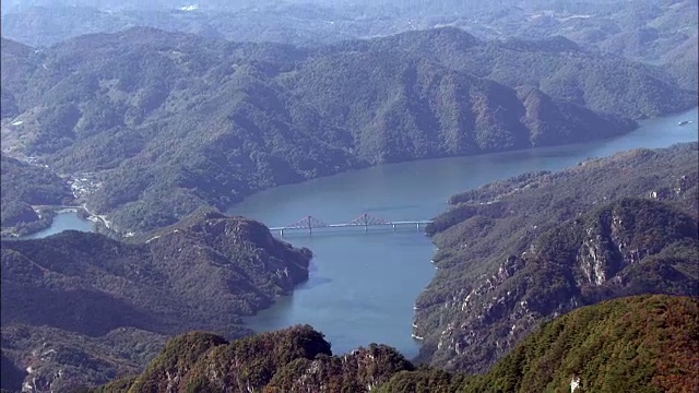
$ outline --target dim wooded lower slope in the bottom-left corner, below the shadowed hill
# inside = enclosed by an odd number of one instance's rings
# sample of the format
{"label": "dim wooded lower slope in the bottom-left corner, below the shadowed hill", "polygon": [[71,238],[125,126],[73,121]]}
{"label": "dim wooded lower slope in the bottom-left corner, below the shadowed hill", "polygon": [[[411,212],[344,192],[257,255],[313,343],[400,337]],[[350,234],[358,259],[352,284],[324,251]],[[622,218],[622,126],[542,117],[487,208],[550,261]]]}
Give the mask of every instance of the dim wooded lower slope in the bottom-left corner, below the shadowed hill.
{"label": "dim wooded lower slope in the bottom-left corner, below the shadowed hill", "polygon": [[135,327],[88,336],[50,325],[3,324],[0,383],[10,392],[23,385],[34,392],[71,392],[141,372],[166,341],[167,335]]}

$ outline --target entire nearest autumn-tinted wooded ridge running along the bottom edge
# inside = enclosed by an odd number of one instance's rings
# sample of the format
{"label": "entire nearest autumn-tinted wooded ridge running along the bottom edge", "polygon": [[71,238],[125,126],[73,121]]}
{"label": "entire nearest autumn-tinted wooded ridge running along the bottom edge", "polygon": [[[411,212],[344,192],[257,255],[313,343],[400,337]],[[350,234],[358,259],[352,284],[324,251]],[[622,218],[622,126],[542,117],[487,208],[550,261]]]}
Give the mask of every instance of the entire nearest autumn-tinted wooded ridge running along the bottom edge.
{"label": "entire nearest autumn-tinted wooded ridge running along the bottom edge", "polygon": [[543,326],[485,376],[416,369],[371,344],[333,356],[310,326],[234,342],[206,333],[170,340],[143,373],[95,392],[689,392],[697,301],[639,296],[576,310]]}

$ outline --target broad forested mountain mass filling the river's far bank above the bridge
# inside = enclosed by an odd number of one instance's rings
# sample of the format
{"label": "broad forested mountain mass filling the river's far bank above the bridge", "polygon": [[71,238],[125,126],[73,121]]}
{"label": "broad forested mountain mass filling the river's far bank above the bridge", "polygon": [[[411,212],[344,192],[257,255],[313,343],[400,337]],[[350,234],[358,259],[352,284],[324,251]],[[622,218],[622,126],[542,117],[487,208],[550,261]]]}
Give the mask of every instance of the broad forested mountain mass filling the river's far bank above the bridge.
{"label": "broad forested mountain mass filling the river's far bank above the bridge", "polygon": [[122,231],[348,168],[588,141],[631,129],[621,116],[696,105],[649,66],[454,28],[312,50],[150,28],[5,47],[3,150],[95,172],[87,204]]}

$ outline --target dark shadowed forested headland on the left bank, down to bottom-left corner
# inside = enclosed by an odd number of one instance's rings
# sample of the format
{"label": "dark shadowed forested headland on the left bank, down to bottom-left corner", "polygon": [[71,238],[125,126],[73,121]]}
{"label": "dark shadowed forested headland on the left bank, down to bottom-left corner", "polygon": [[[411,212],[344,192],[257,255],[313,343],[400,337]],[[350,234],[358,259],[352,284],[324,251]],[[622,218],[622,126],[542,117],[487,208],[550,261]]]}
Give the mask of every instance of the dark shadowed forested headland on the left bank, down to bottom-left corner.
{"label": "dark shadowed forested headland on the left bank, down to bottom-left corner", "polygon": [[241,315],[308,277],[309,250],[241,217],[202,212],[152,235],[2,241],[2,388],[104,383],[140,371],[168,336],[250,334]]}

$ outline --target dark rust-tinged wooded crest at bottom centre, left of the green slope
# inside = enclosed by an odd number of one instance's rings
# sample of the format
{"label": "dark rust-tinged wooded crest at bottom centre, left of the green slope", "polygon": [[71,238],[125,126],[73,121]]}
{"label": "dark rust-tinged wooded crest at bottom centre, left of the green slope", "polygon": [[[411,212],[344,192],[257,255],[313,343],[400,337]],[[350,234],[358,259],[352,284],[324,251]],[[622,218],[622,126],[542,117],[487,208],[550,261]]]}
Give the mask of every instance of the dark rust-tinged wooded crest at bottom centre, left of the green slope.
{"label": "dark rust-tinged wooded crest at bottom centre, left of the green slope", "polygon": [[[413,366],[383,345],[332,356],[310,326],[294,326],[230,343],[206,333],[169,341],[133,379],[109,392],[368,392]],[[118,385],[118,386],[117,386]]]}

